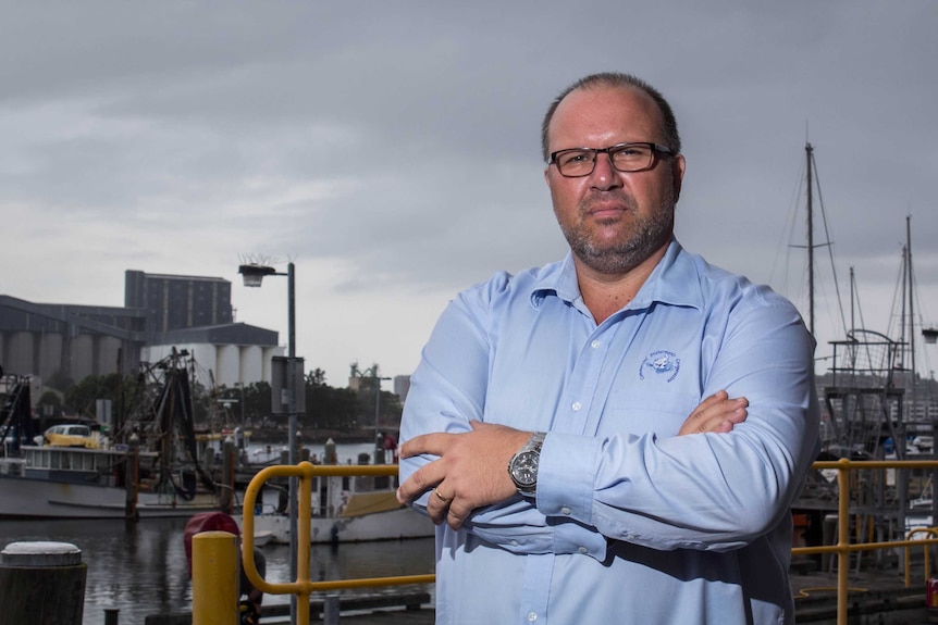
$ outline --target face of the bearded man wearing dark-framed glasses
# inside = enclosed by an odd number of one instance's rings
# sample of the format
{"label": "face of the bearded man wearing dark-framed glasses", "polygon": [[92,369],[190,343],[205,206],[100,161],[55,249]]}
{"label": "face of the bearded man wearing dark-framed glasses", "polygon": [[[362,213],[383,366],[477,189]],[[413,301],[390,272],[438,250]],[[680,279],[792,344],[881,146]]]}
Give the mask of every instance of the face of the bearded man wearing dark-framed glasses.
{"label": "face of the bearded man wearing dark-framed glasses", "polygon": [[[633,88],[578,89],[557,107],[548,128],[551,152],[607,148],[629,141],[663,143],[661,112]],[[665,146],[670,147],[670,146]],[[567,178],[555,165],[544,177],[554,214],[577,260],[603,274],[624,274],[663,253],[674,232],[683,157],[656,155],[651,170],[622,173],[606,154],[589,176]]]}

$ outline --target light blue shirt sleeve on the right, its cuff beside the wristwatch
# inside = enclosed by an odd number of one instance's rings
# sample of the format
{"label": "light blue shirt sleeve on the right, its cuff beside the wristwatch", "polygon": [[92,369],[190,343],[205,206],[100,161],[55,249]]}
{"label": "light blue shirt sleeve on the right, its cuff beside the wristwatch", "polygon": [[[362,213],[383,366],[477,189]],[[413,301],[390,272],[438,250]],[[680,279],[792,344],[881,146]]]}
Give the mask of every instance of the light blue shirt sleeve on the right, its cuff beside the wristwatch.
{"label": "light blue shirt sleeve on the right, its cuff beside the wristwatch", "polygon": [[664,550],[730,550],[778,525],[817,453],[814,339],[788,302],[758,301],[733,312],[703,380],[704,397],[748,398],[745,422],[669,438],[554,433],[539,509]]}

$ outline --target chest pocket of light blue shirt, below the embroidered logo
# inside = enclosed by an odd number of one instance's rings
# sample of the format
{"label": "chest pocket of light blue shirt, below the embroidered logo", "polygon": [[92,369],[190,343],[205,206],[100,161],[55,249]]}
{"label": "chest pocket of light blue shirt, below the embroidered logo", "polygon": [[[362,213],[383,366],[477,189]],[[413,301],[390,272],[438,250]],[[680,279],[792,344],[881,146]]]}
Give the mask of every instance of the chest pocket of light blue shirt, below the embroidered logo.
{"label": "chest pocket of light blue shirt, below the embroidered logo", "polygon": [[691,411],[700,404],[696,395],[634,388],[613,391],[600,420],[598,435],[654,433],[676,436]]}

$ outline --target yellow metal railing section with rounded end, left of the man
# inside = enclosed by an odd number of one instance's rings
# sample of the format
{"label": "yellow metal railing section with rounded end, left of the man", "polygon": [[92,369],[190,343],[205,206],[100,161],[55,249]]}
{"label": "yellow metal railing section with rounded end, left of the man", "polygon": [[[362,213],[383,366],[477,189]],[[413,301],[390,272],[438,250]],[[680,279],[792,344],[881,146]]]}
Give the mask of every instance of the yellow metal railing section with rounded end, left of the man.
{"label": "yellow metal railing section with rounded end, left of the man", "polygon": [[[244,520],[242,536],[244,537],[244,570],[255,588],[271,595],[296,595],[297,597],[297,624],[309,624],[309,596],[312,592],[325,590],[340,590],[348,588],[370,588],[375,586],[400,586],[403,584],[433,584],[436,576],[427,575],[398,575],[392,577],[367,577],[361,579],[340,579],[333,582],[311,582],[309,579],[309,521],[312,515],[312,483],[318,476],[325,477],[354,477],[354,476],[384,476],[397,475],[396,464],[359,464],[359,465],[332,465],[312,464],[300,462],[297,465],[269,466],[261,470],[251,479],[245,490]],[[254,561],[254,507],[257,496],[264,482],[274,477],[298,477],[298,505],[297,505],[297,560],[296,579],[285,584],[270,584],[263,579],[257,571]]]}

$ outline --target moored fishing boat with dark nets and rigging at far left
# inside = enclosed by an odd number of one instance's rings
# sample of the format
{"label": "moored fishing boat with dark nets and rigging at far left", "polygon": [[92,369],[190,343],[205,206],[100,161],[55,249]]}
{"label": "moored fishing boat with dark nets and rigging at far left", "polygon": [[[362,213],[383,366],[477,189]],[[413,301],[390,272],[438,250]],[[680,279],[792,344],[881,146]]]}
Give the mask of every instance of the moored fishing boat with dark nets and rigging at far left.
{"label": "moored fishing boat with dark nets and rigging at far left", "polygon": [[147,367],[157,384],[116,433],[122,442],[98,447],[33,445],[28,379],[3,376],[0,518],[184,517],[232,508],[232,489],[198,458],[186,355],[174,350]]}

